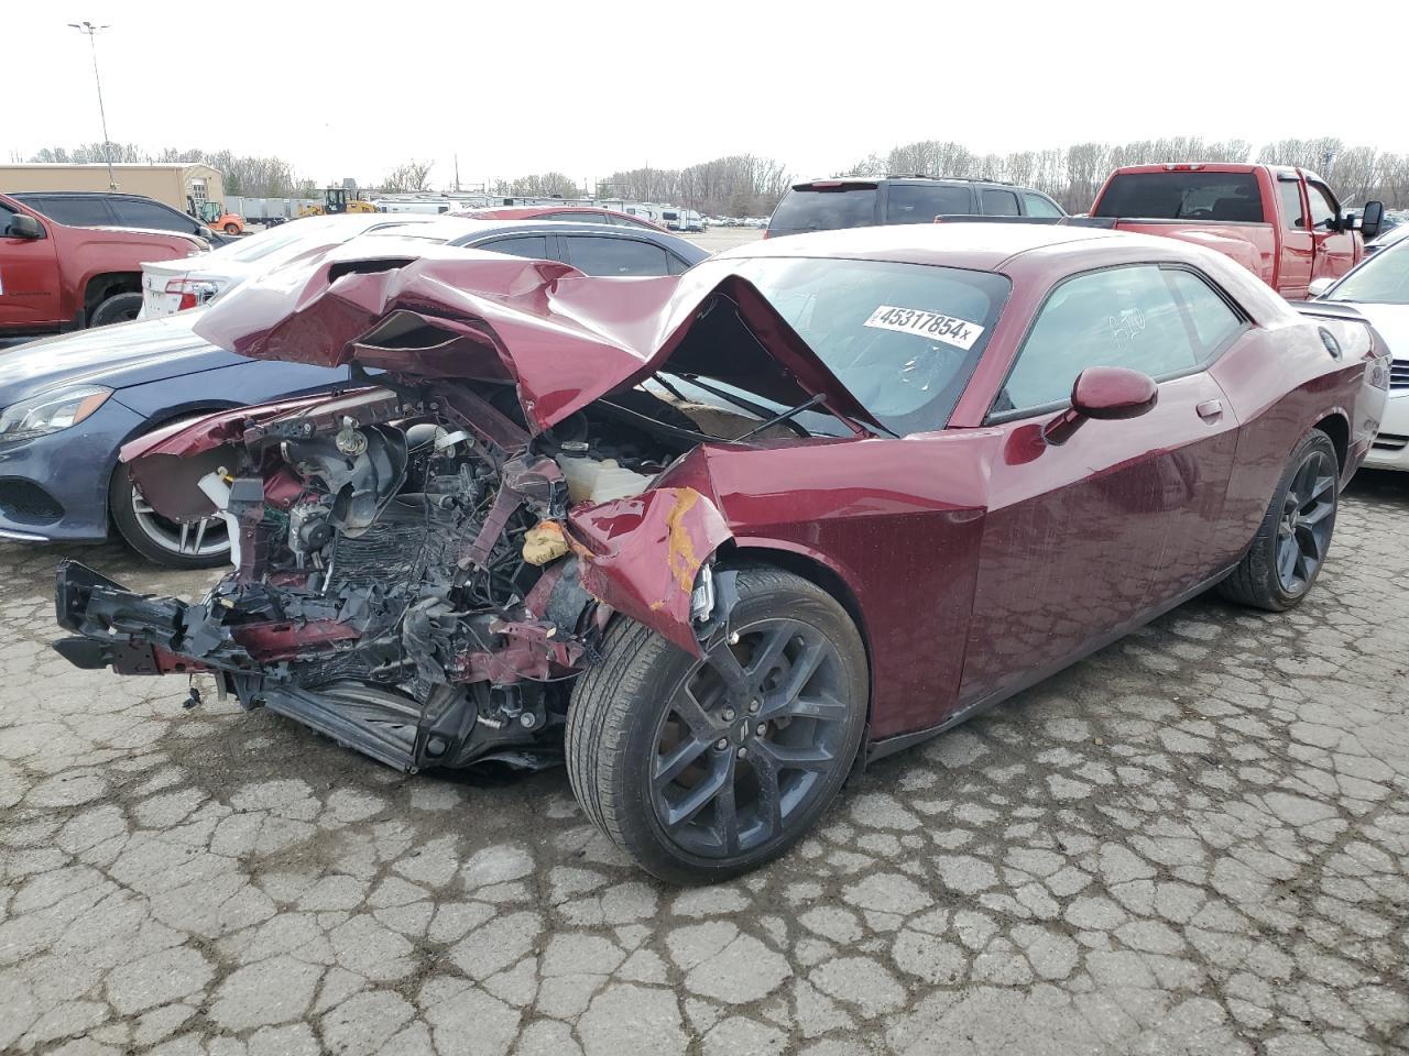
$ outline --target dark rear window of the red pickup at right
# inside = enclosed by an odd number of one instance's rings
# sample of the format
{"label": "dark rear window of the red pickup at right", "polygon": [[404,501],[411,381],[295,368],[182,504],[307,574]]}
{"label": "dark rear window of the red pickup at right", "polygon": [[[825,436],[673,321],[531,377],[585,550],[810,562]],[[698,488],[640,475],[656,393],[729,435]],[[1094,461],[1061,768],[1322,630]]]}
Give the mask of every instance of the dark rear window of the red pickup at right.
{"label": "dark rear window of the red pickup at right", "polygon": [[1093,217],[1262,222],[1262,194],[1250,172],[1126,172],[1112,177]]}

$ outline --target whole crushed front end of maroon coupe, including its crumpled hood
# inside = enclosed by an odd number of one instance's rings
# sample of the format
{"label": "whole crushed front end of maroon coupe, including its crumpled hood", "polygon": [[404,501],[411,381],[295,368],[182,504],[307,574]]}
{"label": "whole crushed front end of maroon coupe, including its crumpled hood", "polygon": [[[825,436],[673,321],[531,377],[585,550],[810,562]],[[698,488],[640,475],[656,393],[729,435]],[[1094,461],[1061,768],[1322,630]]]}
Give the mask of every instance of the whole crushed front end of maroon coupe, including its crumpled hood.
{"label": "whole crushed front end of maroon coupe, including its crumpled hood", "polygon": [[347,365],[356,387],[128,444],[162,515],[224,520],[234,572],[187,604],[66,562],[58,620],[76,636],[55,648],[209,672],[404,770],[554,762],[616,614],[696,656],[719,645],[734,573],[714,565],[731,532],[706,494],[712,445],[883,432],[727,272],[683,298],[674,279],[462,251],[349,245],[285,272],[197,334]]}

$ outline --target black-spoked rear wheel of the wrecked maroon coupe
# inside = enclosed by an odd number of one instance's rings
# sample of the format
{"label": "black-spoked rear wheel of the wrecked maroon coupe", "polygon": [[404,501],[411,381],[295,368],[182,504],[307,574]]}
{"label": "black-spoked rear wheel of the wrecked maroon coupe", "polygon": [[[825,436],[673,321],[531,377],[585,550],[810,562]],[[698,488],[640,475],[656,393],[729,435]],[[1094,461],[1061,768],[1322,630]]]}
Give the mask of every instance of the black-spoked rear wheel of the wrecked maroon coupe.
{"label": "black-spoked rear wheel of the wrecked maroon coupe", "polygon": [[1312,429],[1292,452],[1253,545],[1219,586],[1220,593],[1271,612],[1301,604],[1326,563],[1339,480],[1336,445]]}

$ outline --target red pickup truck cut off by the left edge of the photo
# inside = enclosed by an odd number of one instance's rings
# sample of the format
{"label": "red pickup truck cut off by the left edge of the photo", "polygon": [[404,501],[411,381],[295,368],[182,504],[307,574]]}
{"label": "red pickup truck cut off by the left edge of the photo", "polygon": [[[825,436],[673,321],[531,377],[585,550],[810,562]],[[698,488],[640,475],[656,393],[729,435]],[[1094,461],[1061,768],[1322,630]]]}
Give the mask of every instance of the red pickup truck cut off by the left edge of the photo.
{"label": "red pickup truck cut off by the left edge of the photo", "polygon": [[0,194],[0,339],[135,318],[144,260],[206,249],[173,231],[56,224]]}

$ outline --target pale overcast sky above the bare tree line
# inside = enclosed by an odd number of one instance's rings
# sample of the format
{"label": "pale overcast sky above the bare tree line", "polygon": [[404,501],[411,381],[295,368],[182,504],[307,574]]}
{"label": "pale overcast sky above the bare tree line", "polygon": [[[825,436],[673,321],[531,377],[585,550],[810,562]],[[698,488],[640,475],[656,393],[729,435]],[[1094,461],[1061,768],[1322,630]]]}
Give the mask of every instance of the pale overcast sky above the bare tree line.
{"label": "pale overcast sky above the bare tree line", "polygon": [[[1409,151],[1409,4],[356,4],[10,0],[0,156],[101,139],[278,155],[324,184],[579,182],[723,153],[826,175],[914,139],[976,152],[1334,134]],[[1344,13],[1333,21],[1329,13]],[[1392,42],[1398,37],[1399,44]]]}

